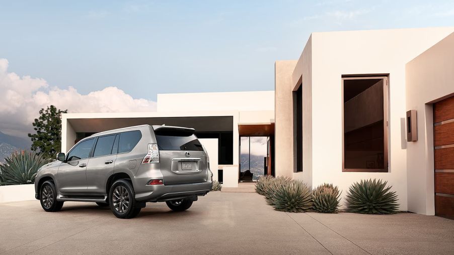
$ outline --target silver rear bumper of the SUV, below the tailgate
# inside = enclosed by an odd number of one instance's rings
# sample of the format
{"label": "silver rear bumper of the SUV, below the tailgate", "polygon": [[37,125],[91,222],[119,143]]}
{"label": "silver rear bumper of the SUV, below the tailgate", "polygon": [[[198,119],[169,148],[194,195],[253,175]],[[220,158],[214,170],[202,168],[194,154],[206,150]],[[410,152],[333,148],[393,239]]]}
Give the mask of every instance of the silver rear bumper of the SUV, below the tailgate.
{"label": "silver rear bumper of the SUV, below the tailgate", "polygon": [[146,191],[135,194],[135,199],[143,202],[160,202],[192,196],[203,196],[211,190],[212,186],[212,182],[148,185],[146,186]]}

